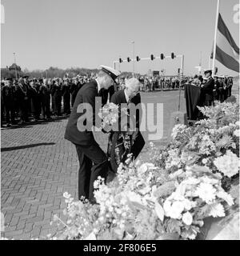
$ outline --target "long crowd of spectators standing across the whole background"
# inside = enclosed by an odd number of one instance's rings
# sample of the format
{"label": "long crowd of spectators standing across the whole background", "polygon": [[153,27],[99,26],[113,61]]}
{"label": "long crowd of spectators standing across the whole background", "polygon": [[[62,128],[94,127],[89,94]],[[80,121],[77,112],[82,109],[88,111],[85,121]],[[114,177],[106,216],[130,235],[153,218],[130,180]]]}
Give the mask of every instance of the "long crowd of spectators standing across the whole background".
{"label": "long crowd of spectators standing across the whole background", "polygon": [[[114,91],[125,88],[128,77],[119,76],[118,84],[108,91],[110,96]],[[176,77],[150,77],[138,76],[140,91],[148,92],[158,90],[174,90],[184,88],[185,83],[202,87],[206,94],[210,94],[210,103],[214,100],[223,102],[231,95],[233,78],[230,76],[217,76],[212,78],[210,74],[210,86],[208,78],[202,75],[183,78],[182,81]],[[22,78],[5,78],[1,82],[1,126],[14,124],[23,125],[31,121],[38,121],[40,117],[50,120],[54,117],[70,114],[78,90],[86,83],[94,79],[91,76],[78,75],[75,78],[29,78],[27,75]],[[112,86],[113,87],[113,86]],[[104,93],[105,94],[105,93]],[[102,95],[107,98],[108,95]],[[208,103],[205,105],[209,105]]]}

